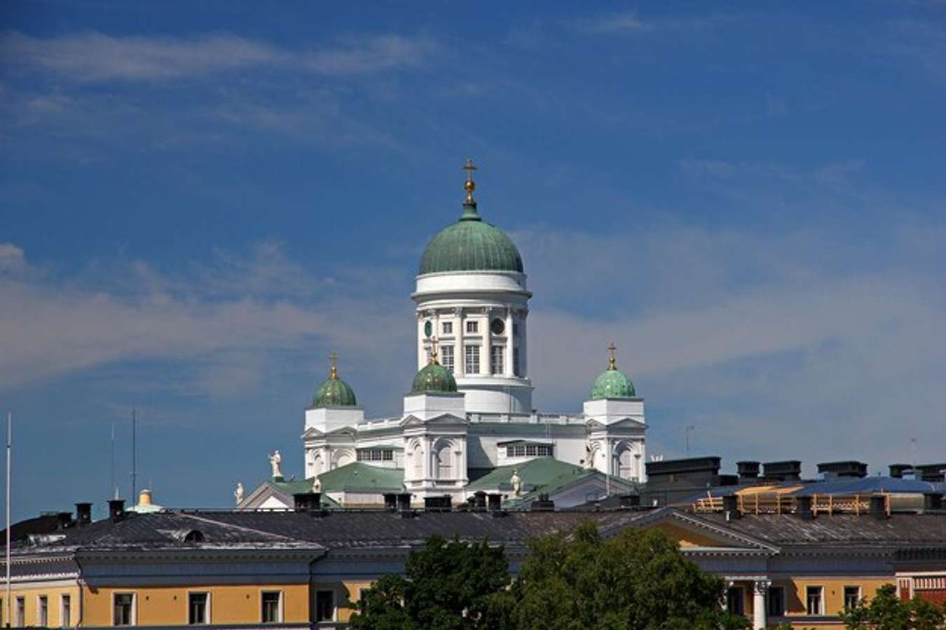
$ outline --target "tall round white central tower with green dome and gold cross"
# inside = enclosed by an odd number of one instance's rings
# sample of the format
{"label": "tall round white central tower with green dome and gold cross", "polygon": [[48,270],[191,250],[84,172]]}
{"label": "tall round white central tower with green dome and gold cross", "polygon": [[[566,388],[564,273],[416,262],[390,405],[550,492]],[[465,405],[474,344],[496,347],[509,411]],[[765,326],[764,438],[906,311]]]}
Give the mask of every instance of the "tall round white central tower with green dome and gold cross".
{"label": "tall round white central tower with green dome and gold cross", "polygon": [[[532,297],[513,241],[480,217],[473,166],[464,166],[463,214],[430,239],[416,290],[417,369],[436,344],[473,413],[532,411],[526,318]],[[434,341],[436,340],[436,341]]]}

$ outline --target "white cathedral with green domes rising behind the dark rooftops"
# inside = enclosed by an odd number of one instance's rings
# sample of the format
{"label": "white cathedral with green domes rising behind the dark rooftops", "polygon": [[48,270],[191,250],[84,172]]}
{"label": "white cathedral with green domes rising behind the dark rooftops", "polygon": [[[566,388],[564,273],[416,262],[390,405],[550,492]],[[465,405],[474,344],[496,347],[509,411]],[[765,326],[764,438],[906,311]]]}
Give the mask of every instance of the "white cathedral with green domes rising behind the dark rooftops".
{"label": "white cathedral with green domes rising behind the dark rooftops", "polygon": [[366,417],[333,358],[306,410],[305,480],[283,478],[277,457],[271,480],[246,497],[238,487],[238,508],[291,507],[292,494],[310,490],[342,506],[382,504],[394,493],[459,504],[477,492],[510,506],[539,494],[575,505],[644,481],[644,402],[613,344],[580,409],[533,409],[522,258],[480,216],[475,166],[464,168],[463,213],[421,256],[411,296],[418,371],[401,415]]}

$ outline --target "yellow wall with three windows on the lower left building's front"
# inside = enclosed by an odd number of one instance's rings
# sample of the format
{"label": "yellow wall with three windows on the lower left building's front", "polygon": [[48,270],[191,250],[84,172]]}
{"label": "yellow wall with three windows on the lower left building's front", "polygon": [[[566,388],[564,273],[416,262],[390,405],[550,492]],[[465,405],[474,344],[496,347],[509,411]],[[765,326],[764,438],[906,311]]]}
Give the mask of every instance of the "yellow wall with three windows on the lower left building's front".
{"label": "yellow wall with three windows on the lower left building's front", "polygon": [[142,588],[84,588],[86,625],[112,625],[112,595],[135,593],[138,625],[185,625],[187,593],[210,593],[212,623],[260,621],[262,592],[283,593],[283,621],[309,621],[308,585],[266,586],[149,586]]}

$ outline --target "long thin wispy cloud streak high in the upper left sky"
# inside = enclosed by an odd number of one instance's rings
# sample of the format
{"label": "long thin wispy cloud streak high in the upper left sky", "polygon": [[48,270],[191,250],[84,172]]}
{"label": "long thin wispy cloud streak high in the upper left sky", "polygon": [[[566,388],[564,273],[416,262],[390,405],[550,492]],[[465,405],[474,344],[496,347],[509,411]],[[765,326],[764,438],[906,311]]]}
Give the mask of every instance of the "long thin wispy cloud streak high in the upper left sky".
{"label": "long thin wispy cloud streak high in the upper left sky", "polygon": [[348,38],[315,50],[289,50],[227,33],[183,39],[85,32],[44,39],[9,31],[0,37],[6,64],[73,81],[166,81],[258,67],[361,75],[416,67],[436,50],[427,37],[391,34]]}

